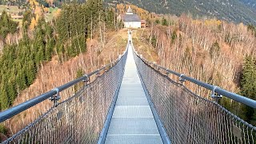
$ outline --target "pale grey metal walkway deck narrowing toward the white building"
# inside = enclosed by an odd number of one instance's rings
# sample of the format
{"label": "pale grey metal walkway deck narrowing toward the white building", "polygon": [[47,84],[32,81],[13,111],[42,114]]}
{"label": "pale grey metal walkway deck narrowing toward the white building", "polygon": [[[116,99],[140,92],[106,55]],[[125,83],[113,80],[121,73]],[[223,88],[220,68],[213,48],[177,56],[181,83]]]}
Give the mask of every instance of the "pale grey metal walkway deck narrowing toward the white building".
{"label": "pale grey metal walkway deck narrowing toward the white building", "polygon": [[105,143],[162,143],[138,77],[131,46]]}

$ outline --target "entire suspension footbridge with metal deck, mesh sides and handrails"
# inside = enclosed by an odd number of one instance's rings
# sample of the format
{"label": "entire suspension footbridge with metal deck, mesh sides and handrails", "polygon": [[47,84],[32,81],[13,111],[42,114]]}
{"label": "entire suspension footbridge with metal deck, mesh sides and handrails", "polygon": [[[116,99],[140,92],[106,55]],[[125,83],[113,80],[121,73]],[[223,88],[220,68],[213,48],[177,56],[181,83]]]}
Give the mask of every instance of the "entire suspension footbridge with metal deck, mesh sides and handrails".
{"label": "entire suspension footbridge with metal deck, mesh sides and handrails", "polygon": [[[169,75],[178,76],[179,81]],[[54,105],[2,143],[255,143],[256,127],[217,101],[189,90],[184,81],[256,108],[250,98],[148,62],[134,50],[115,62],[0,113],[0,122],[38,103]],[[62,91],[84,82],[70,98]]]}

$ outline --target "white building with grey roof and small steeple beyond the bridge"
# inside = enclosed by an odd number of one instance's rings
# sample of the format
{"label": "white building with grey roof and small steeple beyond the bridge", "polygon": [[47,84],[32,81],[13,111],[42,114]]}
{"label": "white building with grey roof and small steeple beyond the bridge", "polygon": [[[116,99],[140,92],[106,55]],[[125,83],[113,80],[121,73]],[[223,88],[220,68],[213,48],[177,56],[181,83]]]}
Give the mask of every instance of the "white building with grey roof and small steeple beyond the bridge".
{"label": "white building with grey roof and small steeple beyond the bridge", "polygon": [[127,10],[127,13],[123,15],[123,22],[126,28],[141,28],[142,22],[141,19],[138,17],[137,14],[133,13],[130,6]]}

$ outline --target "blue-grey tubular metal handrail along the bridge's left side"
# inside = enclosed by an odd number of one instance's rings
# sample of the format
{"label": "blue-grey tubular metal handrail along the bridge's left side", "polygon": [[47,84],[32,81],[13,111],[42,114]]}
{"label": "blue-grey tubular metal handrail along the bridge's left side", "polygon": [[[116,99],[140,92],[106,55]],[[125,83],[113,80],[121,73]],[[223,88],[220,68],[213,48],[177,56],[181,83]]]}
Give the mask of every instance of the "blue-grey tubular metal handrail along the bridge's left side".
{"label": "blue-grey tubular metal handrail along the bridge's left side", "polygon": [[4,122],[7,119],[13,117],[14,115],[19,114],[22,111],[27,110],[30,107],[35,106],[38,103],[45,101],[48,98],[52,98],[54,95],[58,94],[59,92],[62,92],[63,90],[70,88],[71,86],[74,86],[78,82],[89,80],[91,76],[93,76],[94,74],[98,74],[102,70],[106,70],[106,68],[108,68],[108,67],[112,68],[122,59],[122,57],[124,57],[127,49],[128,49],[128,45],[126,46],[126,50],[124,51],[124,53],[122,54],[121,57],[119,57],[114,62],[111,62],[110,64],[108,64],[106,66],[103,66],[102,68],[100,68],[98,70],[94,70],[93,72],[91,72],[89,74],[85,74],[81,78],[77,78],[74,81],[68,82],[62,86],[58,86],[58,87],[54,88],[53,90],[50,90],[44,94],[38,95],[37,97],[32,98],[26,102],[22,102],[21,104],[19,104],[17,106],[13,106],[8,110],[4,110],[4,111],[0,112],[0,122]]}

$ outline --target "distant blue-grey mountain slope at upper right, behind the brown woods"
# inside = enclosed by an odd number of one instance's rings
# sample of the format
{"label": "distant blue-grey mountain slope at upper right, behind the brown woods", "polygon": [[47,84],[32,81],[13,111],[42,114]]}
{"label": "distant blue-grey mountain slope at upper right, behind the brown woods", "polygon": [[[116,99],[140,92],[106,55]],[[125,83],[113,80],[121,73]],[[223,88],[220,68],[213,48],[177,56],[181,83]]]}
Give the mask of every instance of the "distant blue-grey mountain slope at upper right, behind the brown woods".
{"label": "distant blue-grey mountain slope at upper right, behind the brown woods", "polygon": [[106,0],[109,5],[133,4],[158,14],[190,13],[194,17],[210,17],[228,22],[256,25],[255,0]]}

